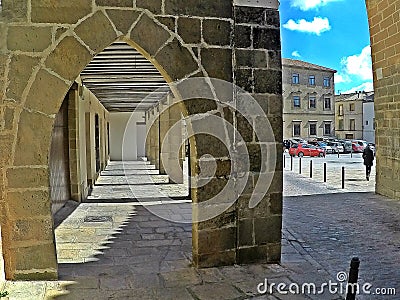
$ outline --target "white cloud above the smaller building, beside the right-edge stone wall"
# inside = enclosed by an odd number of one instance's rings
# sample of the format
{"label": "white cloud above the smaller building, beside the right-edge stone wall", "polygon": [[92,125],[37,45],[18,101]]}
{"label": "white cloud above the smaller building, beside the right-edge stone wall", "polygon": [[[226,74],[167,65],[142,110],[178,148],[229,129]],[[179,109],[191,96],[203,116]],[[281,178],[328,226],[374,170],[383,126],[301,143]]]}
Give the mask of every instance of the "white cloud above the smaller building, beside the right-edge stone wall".
{"label": "white cloud above the smaller building, beside the right-edge stone wall", "polygon": [[345,74],[360,77],[362,80],[372,80],[371,47],[362,49],[360,54],[343,57],[341,64]]}

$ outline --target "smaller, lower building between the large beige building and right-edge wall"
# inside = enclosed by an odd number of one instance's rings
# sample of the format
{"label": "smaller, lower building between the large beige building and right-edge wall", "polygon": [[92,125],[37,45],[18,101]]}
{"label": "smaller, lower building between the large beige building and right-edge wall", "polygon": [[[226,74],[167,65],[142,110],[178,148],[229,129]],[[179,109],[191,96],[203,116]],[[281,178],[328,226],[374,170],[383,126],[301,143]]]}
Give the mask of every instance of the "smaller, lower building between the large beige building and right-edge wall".
{"label": "smaller, lower building between the large beige building and right-edge wall", "polygon": [[335,96],[336,136],[373,143],[374,92],[358,91]]}

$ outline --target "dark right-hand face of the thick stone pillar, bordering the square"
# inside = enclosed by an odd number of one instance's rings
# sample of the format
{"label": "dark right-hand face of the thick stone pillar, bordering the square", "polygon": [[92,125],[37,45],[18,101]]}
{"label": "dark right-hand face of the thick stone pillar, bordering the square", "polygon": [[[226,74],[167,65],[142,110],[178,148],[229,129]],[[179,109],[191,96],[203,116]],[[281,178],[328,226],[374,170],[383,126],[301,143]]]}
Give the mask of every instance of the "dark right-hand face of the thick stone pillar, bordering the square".
{"label": "dark right-hand face of the thick stone pillar, bordering the square", "polygon": [[[283,123],[279,13],[278,3],[275,2],[275,5],[259,7],[251,7],[251,4],[235,6],[235,23],[240,24],[235,26],[236,47],[253,48],[235,49],[235,83],[249,92],[261,108],[258,111],[248,110],[249,104],[238,95],[236,124],[249,152],[250,188],[245,189],[237,203],[237,263],[280,261],[282,155],[270,155],[272,147],[278,154],[281,153]],[[273,129],[273,137],[262,136],[268,122]],[[267,158],[266,164],[262,156]],[[266,177],[271,177],[272,181],[269,186],[261,188],[268,190],[259,204],[250,208],[250,197],[255,193],[264,193],[264,190],[257,190],[257,182]]]}

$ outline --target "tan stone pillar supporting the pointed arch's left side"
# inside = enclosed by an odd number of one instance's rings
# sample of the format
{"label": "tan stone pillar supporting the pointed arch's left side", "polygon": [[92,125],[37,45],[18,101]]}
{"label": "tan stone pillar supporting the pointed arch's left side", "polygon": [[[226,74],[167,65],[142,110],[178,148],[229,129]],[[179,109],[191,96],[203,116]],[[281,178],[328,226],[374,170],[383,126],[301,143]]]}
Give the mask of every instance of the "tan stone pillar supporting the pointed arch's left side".
{"label": "tan stone pillar supporting the pointed arch's left side", "polygon": [[[48,153],[54,117],[15,110],[13,119],[24,130],[14,132],[15,140],[2,135],[0,146],[0,222],[6,279],[56,279],[48,157],[37,155]],[[9,130],[15,130],[12,128],[14,125]],[[32,136],[41,139],[32,142]],[[16,150],[4,151],[13,141]],[[11,155],[15,155],[13,162]]]}

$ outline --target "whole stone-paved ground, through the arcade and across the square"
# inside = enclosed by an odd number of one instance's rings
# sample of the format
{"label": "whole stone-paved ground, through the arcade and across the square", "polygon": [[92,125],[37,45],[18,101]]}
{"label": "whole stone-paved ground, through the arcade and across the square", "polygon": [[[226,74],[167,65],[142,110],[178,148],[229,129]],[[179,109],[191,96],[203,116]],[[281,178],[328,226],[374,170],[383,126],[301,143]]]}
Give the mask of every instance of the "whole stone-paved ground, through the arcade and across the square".
{"label": "whole stone-paved ground, through the arcade and across the square", "polygon": [[257,286],[265,279],[299,286],[340,283],[336,276],[348,271],[354,255],[361,259],[360,282],[399,290],[400,203],[372,193],[350,193],[370,191],[374,185],[374,178],[363,179],[362,164],[350,158],[346,174],[352,180],[346,185],[355,187],[341,189],[333,166],[345,161],[335,160],[320,160],[332,161],[327,183],[318,176],[310,179],[306,170],[301,175],[295,168],[290,171],[286,161],[280,265],[200,270],[190,265],[187,183],[171,185],[146,163],[130,164],[125,171],[112,163],[86,203],[69,202],[57,216],[60,280],[4,282],[0,292],[7,291],[9,299],[342,299],[327,292],[284,295],[274,290],[261,295]]}

